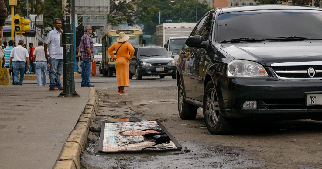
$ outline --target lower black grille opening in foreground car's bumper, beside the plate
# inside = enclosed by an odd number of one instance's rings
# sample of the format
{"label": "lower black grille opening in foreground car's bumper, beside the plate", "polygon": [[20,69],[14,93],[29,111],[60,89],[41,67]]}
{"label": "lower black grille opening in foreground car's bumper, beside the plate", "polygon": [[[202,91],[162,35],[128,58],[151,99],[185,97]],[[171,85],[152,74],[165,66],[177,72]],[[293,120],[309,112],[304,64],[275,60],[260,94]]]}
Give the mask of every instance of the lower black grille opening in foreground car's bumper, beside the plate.
{"label": "lower black grille opening in foreground car's bumper, beside the plate", "polygon": [[263,99],[259,102],[260,109],[264,107],[268,110],[285,109],[322,109],[321,105],[306,106],[305,99]]}

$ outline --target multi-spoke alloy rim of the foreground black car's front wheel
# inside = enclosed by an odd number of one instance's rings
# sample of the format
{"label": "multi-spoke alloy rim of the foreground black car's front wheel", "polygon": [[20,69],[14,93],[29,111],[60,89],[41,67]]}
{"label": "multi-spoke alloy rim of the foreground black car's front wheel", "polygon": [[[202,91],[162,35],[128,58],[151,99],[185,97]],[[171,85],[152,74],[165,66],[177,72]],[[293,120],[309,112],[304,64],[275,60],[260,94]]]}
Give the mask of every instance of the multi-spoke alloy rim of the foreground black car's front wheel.
{"label": "multi-spoke alloy rim of the foreground black car's front wheel", "polygon": [[219,104],[214,88],[210,88],[206,95],[206,120],[211,127],[214,127],[218,122]]}

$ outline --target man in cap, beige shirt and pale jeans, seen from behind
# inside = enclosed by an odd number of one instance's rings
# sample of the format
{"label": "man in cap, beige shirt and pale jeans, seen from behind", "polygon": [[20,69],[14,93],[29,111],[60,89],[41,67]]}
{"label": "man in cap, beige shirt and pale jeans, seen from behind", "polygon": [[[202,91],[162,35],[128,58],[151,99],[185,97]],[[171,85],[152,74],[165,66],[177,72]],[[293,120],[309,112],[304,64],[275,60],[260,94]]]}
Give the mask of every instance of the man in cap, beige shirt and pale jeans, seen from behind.
{"label": "man in cap, beige shirt and pale jeans, seen from behind", "polygon": [[[47,85],[47,68],[49,67],[49,63],[47,63],[48,58],[46,58],[45,51],[43,48],[44,48],[43,41],[39,41],[38,47],[36,47],[35,50],[33,51],[33,59],[35,60],[35,65],[36,65],[38,86]],[[43,72],[43,83],[41,81],[42,72]]]}

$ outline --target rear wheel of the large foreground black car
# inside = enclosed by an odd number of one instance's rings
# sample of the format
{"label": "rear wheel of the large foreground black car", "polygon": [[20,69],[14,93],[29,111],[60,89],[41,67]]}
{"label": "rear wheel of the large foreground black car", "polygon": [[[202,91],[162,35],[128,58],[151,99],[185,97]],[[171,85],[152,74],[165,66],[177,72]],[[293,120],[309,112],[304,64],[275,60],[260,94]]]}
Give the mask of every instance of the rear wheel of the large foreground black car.
{"label": "rear wheel of the large foreground black car", "polygon": [[183,86],[182,86],[181,80],[179,80],[179,85],[178,85],[179,117],[182,120],[193,120],[196,118],[198,108],[199,107],[189,104],[185,101],[185,96],[183,94]]}

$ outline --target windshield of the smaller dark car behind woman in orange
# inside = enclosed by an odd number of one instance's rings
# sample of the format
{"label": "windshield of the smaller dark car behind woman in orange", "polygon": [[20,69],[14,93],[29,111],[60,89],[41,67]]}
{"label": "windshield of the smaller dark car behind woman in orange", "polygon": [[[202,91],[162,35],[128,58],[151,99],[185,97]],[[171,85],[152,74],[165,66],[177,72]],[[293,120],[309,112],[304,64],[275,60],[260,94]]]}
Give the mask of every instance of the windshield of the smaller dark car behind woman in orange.
{"label": "windshield of the smaller dark car behind woman in orange", "polygon": [[169,52],[166,51],[164,47],[147,47],[139,48],[137,51],[137,57],[147,57],[147,56],[170,56]]}

